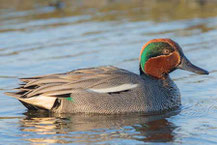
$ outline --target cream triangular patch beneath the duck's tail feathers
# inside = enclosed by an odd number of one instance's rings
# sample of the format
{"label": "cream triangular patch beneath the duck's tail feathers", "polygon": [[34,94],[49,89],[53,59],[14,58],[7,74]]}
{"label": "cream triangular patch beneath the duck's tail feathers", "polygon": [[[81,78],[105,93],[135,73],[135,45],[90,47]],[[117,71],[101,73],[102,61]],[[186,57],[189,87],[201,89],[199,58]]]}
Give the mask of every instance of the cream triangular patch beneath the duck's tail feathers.
{"label": "cream triangular patch beneath the duck's tail feathers", "polygon": [[46,97],[46,96],[40,95],[40,96],[36,96],[32,98],[18,98],[18,99],[25,103],[32,104],[32,105],[50,110],[53,107],[56,97]]}

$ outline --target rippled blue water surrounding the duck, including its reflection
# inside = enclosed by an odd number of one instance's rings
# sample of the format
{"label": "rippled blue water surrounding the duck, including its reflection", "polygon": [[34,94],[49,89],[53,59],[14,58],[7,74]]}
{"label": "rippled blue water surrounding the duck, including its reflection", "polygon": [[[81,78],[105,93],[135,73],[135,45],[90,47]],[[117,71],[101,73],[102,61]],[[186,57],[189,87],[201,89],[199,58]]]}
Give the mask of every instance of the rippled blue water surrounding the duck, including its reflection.
{"label": "rippled blue water surrounding the duck, including its reflection", "polygon": [[[217,1],[0,0],[1,144],[217,144]],[[150,39],[169,37],[210,71],[171,77],[182,108],[165,115],[28,112],[3,93],[19,77],[115,65],[138,73]]]}

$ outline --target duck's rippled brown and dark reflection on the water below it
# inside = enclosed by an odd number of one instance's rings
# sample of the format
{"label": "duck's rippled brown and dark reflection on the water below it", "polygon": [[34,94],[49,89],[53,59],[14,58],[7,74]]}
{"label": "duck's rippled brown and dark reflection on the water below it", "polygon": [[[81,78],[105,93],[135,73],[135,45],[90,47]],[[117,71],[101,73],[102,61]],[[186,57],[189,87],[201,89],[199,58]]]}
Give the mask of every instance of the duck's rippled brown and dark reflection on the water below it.
{"label": "duck's rippled brown and dark reflection on the water below it", "polygon": [[172,142],[176,126],[167,118],[178,114],[147,116],[50,114],[28,111],[20,120],[24,140],[32,143],[99,143],[114,139]]}

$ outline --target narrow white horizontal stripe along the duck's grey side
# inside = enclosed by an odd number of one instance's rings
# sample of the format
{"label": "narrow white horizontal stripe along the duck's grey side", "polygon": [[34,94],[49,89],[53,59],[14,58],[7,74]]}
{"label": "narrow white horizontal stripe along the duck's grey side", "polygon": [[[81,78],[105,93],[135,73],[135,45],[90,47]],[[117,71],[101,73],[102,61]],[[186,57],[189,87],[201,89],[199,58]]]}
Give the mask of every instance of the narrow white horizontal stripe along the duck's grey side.
{"label": "narrow white horizontal stripe along the duck's grey side", "polygon": [[110,88],[102,88],[102,89],[88,89],[88,91],[96,92],[96,93],[114,93],[114,92],[121,92],[136,88],[138,84],[123,84],[115,87]]}

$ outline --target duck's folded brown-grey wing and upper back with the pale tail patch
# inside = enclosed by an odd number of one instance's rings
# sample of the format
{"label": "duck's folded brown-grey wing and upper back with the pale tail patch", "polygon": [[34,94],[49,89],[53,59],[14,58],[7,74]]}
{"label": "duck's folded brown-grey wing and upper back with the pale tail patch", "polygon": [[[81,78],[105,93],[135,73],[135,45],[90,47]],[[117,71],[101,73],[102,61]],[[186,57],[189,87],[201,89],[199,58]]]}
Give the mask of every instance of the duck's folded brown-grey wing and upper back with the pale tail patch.
{"label": "duck's folded brown-grey wing and upper back with the pale tail patch", "polygon": [[[95,95],[126,92],[136,88],[139,76],[113,66],[74,70],[68,73],[21,78],[18,92],[6,93],[19,99],[27,108],[32,104],[51,109],[57,98],[71,99],[71,94],[91,92]],[[73,99],[73,98],[72,98]]]}

